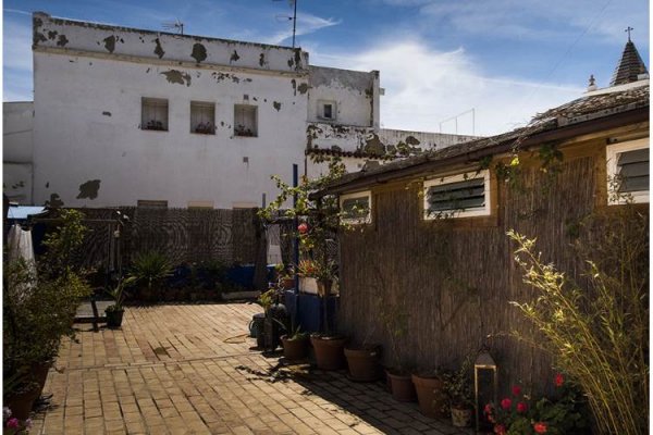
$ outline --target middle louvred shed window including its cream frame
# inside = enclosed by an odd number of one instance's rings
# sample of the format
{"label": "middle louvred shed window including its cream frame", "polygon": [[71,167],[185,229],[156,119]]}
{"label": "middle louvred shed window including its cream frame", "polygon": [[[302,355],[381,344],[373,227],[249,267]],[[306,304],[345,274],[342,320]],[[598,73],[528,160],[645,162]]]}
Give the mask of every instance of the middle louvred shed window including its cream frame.
{"label": "middle louvred shed window including its cream frame", "polygon": [[424,182],[424,219],[470,217],[490,214],[488,170]]}

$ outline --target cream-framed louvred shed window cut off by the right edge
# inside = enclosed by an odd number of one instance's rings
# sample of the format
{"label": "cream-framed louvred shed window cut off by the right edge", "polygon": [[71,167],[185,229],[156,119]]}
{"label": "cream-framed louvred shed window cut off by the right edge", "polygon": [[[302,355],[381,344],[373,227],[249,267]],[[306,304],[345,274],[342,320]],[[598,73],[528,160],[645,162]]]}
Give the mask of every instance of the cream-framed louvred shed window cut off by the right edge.
{"label": "cream-framed louvred shed window cut off by the right edge", "polygon": [[649,202],[649,139],[607,147],[608,203]]}

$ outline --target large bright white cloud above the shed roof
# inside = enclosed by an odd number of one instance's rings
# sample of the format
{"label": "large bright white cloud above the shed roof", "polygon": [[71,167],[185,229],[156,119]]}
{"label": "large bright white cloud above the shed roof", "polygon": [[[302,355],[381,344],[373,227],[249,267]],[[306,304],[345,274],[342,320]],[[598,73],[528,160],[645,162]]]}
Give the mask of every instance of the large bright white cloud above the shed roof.
{"label": "large bright white cloud above the shed roof", "polygon": [[[458,119],[458,133],[492,135],[526,125],[546,109],[579,98],[583,89],[492,76],[465,50],[436,51],[416,40],[391,41],[356,55],[313,52],[316,63],[381,71],[381,123],[387,128],[439,132]],[[455,133],[455,121],[442,125]]]}

